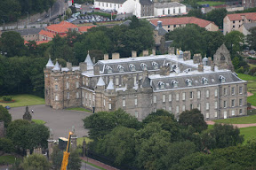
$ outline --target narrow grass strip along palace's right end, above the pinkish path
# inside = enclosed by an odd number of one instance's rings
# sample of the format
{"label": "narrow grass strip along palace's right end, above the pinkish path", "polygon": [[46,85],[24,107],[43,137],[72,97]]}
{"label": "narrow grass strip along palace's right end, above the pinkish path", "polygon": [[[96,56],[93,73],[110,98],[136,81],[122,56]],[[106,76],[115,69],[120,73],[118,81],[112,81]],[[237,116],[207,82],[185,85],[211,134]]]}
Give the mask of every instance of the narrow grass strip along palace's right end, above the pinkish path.
{"label": "narrow grass strip along palace's right end, above the pinkish path", "polygon": [[256,123],[256,115],[244,116],[239,118],[229,118],[226,120],[213,120],[216,123],[227,123],[227,124],[250,124]]}

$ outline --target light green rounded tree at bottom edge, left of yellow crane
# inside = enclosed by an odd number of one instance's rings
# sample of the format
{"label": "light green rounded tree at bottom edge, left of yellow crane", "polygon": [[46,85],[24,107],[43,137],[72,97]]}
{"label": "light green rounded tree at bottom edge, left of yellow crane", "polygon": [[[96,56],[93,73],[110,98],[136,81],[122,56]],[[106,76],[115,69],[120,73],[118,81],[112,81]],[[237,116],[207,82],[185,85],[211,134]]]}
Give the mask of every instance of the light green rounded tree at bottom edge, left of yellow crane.
{"label": "light green rounded tree at bottom edge, left of yellow crane", "polygon": [[44,155],[32,154],[25,157],[20,166],[26,170],[49,170],[51,164]]}

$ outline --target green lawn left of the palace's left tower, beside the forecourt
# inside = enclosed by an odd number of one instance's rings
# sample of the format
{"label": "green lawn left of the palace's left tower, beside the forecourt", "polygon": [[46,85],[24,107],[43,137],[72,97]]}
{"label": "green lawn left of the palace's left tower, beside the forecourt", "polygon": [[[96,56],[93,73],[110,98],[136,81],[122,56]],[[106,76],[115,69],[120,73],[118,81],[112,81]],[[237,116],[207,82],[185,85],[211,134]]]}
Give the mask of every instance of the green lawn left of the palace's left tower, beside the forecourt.
{"label": "green lawn left of the palace's left tower, beside the forecourt", "polygon": [[[3,100],[0,97],[0,100]],[[0,103],[0,105],[6,106],[10,105],[12,107],[20,107],[26,105],[36,105],[36,104],[44,104],[44,98],[36,97],[34,95],[15,95],[12,96],[12,100],[15,100],[14,103]]]}

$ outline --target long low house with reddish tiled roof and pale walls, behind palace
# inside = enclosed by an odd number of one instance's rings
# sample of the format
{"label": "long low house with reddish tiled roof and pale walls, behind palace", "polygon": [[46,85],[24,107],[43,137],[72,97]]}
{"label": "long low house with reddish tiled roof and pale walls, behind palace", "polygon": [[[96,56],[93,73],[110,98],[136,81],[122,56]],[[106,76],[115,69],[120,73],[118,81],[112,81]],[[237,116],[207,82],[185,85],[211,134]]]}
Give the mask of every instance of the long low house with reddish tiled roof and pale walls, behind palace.
{"label": "long low house with reddish tiled roof and pale walls, behind palace", "polygon": [[162,21],[163,28],[170,32],[177,27],[186,27],[187,24],[196,24],[199,27],[204,27],[208,31],[218,31],[219,27],[214,22],[196,17],[180,17],[180,18],[160,18],[151,19],[150,22],[157,26],[157,21]]}

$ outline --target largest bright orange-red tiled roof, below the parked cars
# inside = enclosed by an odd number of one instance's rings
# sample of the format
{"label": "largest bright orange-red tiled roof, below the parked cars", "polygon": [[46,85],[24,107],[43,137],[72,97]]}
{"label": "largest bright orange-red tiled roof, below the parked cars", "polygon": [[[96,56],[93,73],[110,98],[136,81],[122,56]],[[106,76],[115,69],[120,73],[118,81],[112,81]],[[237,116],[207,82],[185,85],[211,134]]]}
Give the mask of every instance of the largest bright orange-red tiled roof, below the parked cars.
{"label": "largest bright orange-red tiled roof, below the parked cars", "polygon": [[57,33],[67,33],[69,28],[76,28],[75,24],[72,24],[68,21],[61,21],[59,24],[52,24],[51,26],[46,27],[46,29],[57,32]]}

